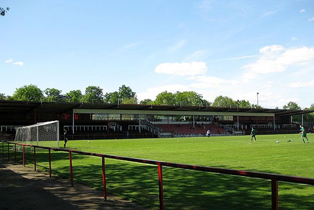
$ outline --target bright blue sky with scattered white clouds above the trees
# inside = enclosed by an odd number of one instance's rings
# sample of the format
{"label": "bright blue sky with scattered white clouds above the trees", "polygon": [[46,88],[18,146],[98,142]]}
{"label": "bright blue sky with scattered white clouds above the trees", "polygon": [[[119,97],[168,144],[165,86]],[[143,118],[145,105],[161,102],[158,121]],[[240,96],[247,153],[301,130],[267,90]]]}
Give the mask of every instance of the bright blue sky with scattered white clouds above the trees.
{"label": "bright blue sky with scattered white clouds above the trees", "polygon": [[314,103],[314,2],[0,1],[0,92],[125,84],[265,108]]}

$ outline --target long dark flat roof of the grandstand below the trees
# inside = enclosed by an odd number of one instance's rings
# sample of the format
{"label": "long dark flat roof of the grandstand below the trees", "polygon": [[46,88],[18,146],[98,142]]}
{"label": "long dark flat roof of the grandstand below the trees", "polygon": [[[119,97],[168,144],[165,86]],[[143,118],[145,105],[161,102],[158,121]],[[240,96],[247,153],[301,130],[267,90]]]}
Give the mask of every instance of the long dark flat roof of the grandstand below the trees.
{"label": "long dark flat roof of the grandstand below the trees", "polygon": [[[314,110],[290,110],[267,108],[230,108],[206,106],[180,106],[180,105],[143,105],[143,104],[105,104],[105,103],[67,103],[67,102],[27,102],[0,100],[0,115],[26,114],[36,110],[36,113],[137,113],[137,114],[180,114],[180,115],[207,115],[208,113],[221,113],[223,115],[265,115],[275,116],[313,113]],[[93,110],[93,111],[92,111]],[[98,110],[98,112],[95,112]],[[131,112],[130,112],[131,111]],[[156,112],[158,111],[158,112]],[[229,114],[228,114],[229,113]]]}

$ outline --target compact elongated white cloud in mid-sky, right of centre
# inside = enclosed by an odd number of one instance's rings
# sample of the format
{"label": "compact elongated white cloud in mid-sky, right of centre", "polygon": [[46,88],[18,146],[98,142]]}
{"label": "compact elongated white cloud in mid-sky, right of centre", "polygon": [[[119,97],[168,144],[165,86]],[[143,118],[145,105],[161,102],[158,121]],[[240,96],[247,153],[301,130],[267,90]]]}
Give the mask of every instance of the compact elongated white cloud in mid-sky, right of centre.
{"label": "compact elongated white cloud in mid-sky, right of centre", "polygon": [[162,63],[155,68],[156,73],[163,73],[168,75],[199,75],[205,74],[207,71],[206,63],[192,62],[192,63]]}

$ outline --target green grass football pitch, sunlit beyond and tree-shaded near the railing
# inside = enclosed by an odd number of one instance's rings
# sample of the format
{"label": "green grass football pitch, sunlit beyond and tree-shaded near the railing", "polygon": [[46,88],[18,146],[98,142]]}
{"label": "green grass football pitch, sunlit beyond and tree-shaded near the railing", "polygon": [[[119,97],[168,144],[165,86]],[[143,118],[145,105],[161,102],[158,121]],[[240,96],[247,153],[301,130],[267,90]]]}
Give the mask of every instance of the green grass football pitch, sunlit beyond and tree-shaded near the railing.
{"label": "green grass football pitch, sunlit beyond and tree-shaded near the railing", "polygon": [[[74,150],[173,163],[314,178],[314,135],[299,134],[68,141]],[[276,143],[276,141],[279,143]],[[290,142],[287,142],[291,140]],[[63,145],[63,142],[60,142]],[[48,167],[48,152],[36,151]],[[13,156],[13,151],[11,157]],[[73,154],[74,181],[102,189],[101,158]],[[19,160],[21,155],[19,154]],[[69,178],[68,153],[52,152],[54,174]],[[33,153],[26,159],[33,161]],[[157,166],[106,158],[107,192],[159,208]],[[271,209],[269,180],[163,167],[165,209]],[[70,183],[69,183],[70,184]],[[101,192],[100,192],[101,195]],[[279,182],[280,209],[314,209],[314,186]]]}

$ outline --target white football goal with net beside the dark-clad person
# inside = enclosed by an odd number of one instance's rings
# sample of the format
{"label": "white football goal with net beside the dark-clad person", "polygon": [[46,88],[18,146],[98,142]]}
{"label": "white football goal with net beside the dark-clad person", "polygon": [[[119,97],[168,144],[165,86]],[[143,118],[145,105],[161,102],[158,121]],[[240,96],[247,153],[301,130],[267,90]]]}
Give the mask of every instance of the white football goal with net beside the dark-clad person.
{"label": "white football goal with net beside the dark-clad person", "polygon": [[14,142],[59,148],[59,121],[16,128]]}

